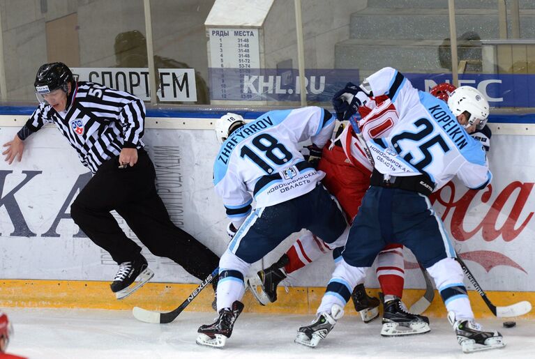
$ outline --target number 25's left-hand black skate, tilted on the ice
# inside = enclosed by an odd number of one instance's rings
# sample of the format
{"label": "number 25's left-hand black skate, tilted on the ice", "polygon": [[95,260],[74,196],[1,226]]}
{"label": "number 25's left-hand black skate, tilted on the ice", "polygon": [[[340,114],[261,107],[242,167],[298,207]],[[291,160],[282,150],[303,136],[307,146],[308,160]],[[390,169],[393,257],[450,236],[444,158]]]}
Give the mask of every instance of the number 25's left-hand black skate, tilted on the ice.
{"label": "number 25's left-hand black skate, tilted on the ice", "polygon": [[297,330],[297,337],[294,342],[315,348],[334,328],[336,321],[342,318],[344,309],[340,305],[333,305],[331,313],[319,313],[310,323],[310,326],[303,326]]}

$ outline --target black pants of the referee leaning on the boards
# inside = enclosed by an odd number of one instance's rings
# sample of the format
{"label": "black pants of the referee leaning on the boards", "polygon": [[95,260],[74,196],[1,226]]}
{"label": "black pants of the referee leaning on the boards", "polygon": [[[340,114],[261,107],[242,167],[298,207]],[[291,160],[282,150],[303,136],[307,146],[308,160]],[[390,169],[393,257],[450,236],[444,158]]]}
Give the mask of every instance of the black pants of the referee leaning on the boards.
{"label": "black pants of the referee leaning on the boards", "polygon": [[153,254],[172,259],[204,280],[218,266],[219,258],[171,222],[156,192],[153,163],[143,149],[137,153],[133,167],[119,169],[118,158],[103,163],[70,206],[70,216],[114,261],[132,261],[141,247],[119,227],[110,213],[115,210]]}

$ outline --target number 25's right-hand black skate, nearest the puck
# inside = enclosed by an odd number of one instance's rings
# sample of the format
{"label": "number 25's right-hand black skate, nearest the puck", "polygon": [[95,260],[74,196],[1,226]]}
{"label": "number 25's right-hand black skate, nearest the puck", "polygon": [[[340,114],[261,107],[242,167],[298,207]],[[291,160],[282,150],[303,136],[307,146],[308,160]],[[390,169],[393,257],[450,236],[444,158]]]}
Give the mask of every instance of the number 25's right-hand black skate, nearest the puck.
{"label": "number 25's right-hand black skate, nearest the puck", "polygon": [[481,326],[469,319],[455,320],[455,313],[448,313],[448,320],[455,330],[457,341],[463,353],[472,353],[489,349],[500,349],[505,346],[504,338],[497,332],[483,332]]}

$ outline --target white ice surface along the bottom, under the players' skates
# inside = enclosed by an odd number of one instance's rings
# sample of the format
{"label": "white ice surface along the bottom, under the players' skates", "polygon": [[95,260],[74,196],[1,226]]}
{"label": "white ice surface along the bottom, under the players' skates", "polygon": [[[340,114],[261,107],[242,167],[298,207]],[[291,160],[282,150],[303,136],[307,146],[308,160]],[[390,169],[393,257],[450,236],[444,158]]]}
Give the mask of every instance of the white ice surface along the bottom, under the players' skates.
{"label": "white ice surface along the bottom, under the players' skates", "polygon": [[[294,344],[299,326],[312,315],[241,314],[224,349],[195,344],[197,328],[215,312],[185,312],[170,324],[137,321],[129,311],[3,308],[15,329],[9,352],[33,359],[157,358],[465,358],[446,319],[431,319],[431,332],[410,337],[381,337],[381,323],[358,316],[340,319],[316,349]],[[511,320],[511,319],[508,319]],[[469,358],[534,358],[535,321],[483,319],[483,328],[499,330],[506,348],[473,353]],[[468,358],[468,357],[466,357]]]}

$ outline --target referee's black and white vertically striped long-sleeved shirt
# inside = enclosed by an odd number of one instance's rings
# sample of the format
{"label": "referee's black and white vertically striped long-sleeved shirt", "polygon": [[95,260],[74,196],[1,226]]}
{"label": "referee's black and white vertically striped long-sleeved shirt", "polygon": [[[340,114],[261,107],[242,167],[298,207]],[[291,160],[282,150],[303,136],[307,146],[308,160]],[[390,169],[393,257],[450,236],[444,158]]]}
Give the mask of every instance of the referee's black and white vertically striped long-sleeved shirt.
{"label": "referee's black and white vertically striped long-sleeved shirt", "polygon": [[145,106],[139,98],[92,82],[77,82],[68,104],[58,113],[42,103],[25,127],[36,132],[45,123],[54,123],[93,174],[122,148],[144,147]]}

